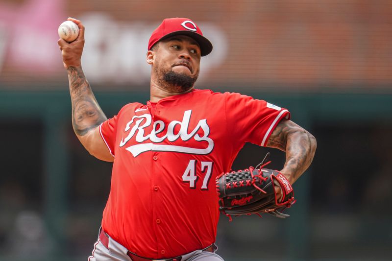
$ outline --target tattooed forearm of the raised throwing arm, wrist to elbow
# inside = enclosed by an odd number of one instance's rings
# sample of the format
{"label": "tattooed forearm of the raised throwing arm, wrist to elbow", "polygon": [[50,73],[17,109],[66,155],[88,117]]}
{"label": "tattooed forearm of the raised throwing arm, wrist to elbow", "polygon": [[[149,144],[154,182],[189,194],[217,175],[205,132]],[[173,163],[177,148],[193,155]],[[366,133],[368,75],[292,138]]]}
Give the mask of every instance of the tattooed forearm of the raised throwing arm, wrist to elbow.
{"label": "tattooed forearm of the raised throwing arm, wrist to elbow", "polygon": [[98,105],[81,67],[69,67],[68,80],[72,102],[74,132],[83,136],[107,118]]}

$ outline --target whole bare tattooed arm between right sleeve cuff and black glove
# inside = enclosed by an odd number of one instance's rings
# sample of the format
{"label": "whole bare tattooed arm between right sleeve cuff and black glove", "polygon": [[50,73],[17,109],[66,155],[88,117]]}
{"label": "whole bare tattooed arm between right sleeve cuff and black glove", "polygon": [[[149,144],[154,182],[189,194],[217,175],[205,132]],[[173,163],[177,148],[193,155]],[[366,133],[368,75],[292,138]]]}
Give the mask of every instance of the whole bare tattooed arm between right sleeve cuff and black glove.
{"label": "whole bare tattooed arm between right sleeve cuff and black glove", "polygon": [[282,120],[272,132],[268,147],[286,151],[286,163],[282,173],[294,183],[310,166],[317,142],[312,134],[291,120]]}

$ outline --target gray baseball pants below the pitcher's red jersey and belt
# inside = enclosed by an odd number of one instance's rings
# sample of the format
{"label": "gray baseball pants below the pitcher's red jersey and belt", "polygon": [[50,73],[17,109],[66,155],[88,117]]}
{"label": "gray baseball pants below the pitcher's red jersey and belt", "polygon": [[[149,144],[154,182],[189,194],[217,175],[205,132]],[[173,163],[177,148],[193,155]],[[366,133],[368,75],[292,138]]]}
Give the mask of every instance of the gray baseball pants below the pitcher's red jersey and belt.
{"label": "gray baseball pants below the pitcher's red jersey and belt", "polygon": [[[108,248],[98,237],[98,241],[94,244],[92,256],[89,257],[88,261],[132,261],[127,255],[128,250],[110,236],[108,237]],[[196,250],[182,255],[181,261],[223,261],[223,259],[216,253]]]}

